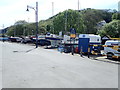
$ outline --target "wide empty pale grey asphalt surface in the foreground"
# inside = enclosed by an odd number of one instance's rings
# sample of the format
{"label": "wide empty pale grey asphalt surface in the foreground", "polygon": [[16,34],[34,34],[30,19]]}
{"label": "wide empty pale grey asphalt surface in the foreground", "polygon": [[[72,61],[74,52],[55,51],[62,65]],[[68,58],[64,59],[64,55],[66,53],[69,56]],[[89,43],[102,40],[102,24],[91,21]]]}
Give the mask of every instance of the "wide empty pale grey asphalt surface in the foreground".
{"label": "wide empty pale grey asphalt surface in the foreground", "polygon": [[118,64],[24,44],[0,46],[2,88],[118,88]]}

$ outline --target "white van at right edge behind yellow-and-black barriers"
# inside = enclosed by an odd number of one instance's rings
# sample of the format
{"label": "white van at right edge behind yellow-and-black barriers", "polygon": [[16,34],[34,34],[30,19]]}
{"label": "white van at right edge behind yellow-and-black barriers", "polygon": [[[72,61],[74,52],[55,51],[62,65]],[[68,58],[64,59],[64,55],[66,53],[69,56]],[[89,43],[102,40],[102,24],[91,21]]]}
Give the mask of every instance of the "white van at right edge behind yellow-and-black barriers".
{"label": "white van at right edge behind yellow-and-black barriers", "polygon": [[[120,46],[120,40],[108,40],[105,45]],[[120,58],[120,47],[104,47],[104,53],[109,59]]]}

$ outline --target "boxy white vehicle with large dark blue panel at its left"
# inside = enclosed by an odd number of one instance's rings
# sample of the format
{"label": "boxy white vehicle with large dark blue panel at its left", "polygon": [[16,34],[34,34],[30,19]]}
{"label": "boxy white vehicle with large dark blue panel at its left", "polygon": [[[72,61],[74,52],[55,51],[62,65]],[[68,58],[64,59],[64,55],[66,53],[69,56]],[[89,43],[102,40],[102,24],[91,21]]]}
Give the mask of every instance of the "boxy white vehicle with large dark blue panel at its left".
{"label": "boxy white vehicle with large dark blue panel at its left", "polygon": [[[94,34],[80,34],[78,42],[79,51],[82,51],[83,53],[88,53],[89,45],[101,45],[101,36]],[[99,48],[100,47],[90,46],[90,52],[92,50],[99,50]]]}

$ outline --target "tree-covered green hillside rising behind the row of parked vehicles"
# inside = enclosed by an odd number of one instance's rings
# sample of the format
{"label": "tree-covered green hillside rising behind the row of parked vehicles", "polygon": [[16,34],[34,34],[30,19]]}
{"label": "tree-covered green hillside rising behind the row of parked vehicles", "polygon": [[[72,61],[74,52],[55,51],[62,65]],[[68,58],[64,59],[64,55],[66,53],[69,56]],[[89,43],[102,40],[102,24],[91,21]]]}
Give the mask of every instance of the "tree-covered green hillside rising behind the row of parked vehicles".
{"label": "tree-covered green hillside rising behind the row of parked vehicles", "polygon": [[[69,9],[60,12],[47,20],[39,21],[38,31],[39,34],[44,34],[46,32],[58,34],[60,31],[62,31],[64,34],[67,34],[69,33],[70,28],[75,28],[77,33],[96,34],[98,32],[97,24],[103,20],[106,23],[111,22],[112,15],[115,12],[116,11],[110,12],[109,10],[97,10],[90,8],[79,11]],[[21,36],[23,34],[32,35],[35,34],[35,24],[15,24],[14,26],[8,28],[7,34],[9,36],[13,36],[15,30],[17,36]]]}

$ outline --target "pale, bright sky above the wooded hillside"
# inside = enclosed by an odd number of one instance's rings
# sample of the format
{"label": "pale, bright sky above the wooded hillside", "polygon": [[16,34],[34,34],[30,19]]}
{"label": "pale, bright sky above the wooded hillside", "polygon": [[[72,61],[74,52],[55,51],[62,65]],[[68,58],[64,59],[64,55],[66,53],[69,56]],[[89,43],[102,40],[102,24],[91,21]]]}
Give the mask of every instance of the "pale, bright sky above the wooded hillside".
{"label": "pale, bright sky above the wooded hillside", "polygon": [[[80,9],[116,9],[119,0],[79,0]],[[78,9],[78,0],[37,0],[39,6],[39,20],[52,16],[52,2],[54,15],[67,9]],[[0,0],[0,29],[11,26],[18,20],[35,22],[35,11],[26,12],[27,5],[36,6],[36,0]]]}

